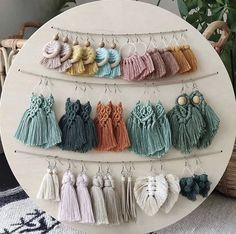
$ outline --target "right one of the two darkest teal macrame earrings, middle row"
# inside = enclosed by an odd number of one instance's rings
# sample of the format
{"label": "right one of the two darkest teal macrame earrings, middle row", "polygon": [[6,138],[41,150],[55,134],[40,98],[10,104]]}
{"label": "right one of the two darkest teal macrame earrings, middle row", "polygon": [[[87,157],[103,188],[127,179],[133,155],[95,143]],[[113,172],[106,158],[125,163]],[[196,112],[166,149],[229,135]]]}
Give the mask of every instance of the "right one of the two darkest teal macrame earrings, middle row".
{"label": "right one of the two darkest teal macrame earrings, middle row", "polygon": [[92,107],[90,102],[81,105],[80,115],[84,122],[84,132],[86,140],[85,144],[83,144],[81,149],[79,150],[81,153],[86,153],[97,146],[97,134],[94,122],[90,117],[91,111]]}

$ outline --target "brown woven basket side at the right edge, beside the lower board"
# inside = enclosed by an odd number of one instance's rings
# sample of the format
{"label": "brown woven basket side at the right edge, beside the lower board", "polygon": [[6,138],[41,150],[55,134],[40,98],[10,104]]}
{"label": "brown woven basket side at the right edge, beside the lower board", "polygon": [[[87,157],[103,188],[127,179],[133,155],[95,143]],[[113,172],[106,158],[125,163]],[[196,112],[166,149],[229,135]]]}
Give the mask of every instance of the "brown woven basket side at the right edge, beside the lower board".
{"label": "brown woven basket side at the right edge, beside the lower board", "polygon": [[236,142],[229,165],[216,189],[226,196],[236,198]]}

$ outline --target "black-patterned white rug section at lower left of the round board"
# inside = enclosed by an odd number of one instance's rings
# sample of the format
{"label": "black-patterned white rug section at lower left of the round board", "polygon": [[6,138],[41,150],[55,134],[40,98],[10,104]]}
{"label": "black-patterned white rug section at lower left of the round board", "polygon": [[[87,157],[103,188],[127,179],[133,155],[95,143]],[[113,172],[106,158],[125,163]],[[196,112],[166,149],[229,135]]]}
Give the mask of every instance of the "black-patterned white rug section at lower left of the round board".
{"label": "black-patterned white rug section at lower left of the round board", "polygon": [[38,209],[21,187],[0,192],[0,234],[82,234]]}

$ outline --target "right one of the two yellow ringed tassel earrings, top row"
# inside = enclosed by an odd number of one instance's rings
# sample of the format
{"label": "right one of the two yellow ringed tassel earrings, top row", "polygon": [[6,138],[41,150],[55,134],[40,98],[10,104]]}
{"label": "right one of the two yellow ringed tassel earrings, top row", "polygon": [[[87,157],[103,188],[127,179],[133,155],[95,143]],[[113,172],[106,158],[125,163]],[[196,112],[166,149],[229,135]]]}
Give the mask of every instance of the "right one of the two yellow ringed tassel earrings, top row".
{"label": "right one of the two yellow ringed tassel earrings, top row", "polygon": [[85,46],[83,47],[83,57],[82,57],[85,71],[84,76],[93,76],[98,72],[98,65],[96,63],[96,51],[91,46],[90,41],[87,38]]}

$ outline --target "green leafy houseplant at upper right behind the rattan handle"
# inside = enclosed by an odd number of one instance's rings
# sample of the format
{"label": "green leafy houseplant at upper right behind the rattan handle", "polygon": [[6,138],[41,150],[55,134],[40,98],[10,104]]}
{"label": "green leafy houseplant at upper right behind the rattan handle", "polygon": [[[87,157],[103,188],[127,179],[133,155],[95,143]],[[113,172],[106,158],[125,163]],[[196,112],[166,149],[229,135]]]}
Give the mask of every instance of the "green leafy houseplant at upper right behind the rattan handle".
{"label": "green leafy houseplant at upper right behind the rattan handle", "polygon": [[[225,21],[231,29],[231,35],[221,53],[231,81],[236,91],[236,0],[177,0],[181,16],[200,32],[209,23],[216,20]],[[217,41],[220,32],[216,32],[210,40]]]}

